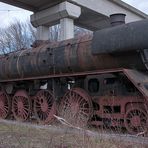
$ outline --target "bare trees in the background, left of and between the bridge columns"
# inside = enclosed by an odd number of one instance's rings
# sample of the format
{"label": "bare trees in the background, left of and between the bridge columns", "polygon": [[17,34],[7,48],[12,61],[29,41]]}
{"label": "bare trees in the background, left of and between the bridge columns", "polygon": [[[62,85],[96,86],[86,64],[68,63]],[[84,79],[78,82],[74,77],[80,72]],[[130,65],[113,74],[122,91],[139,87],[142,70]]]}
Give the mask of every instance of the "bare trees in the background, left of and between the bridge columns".
{"label": "bare trees in the background, left of and between the bridge columns", "polygon": [[[75,26],[75,37],[91,34],[90,31]],[[58,41],[60,37],[60,25],[49,28],[49,41]],[[36,40],[36,29],[28,21],[22,23],[16,21],[8,28],[0,28],[0,54],[6,54],[15,50],[28,49]]]}

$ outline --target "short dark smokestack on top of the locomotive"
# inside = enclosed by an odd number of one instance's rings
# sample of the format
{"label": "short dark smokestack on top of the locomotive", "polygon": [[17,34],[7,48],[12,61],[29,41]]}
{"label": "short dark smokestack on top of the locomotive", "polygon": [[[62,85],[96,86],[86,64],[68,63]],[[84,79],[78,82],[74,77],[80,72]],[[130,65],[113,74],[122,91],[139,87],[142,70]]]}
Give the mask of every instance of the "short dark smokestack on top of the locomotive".
{"label": "short dark smokestack on top of the locomotive", "polygon": [[112,26],[118,26],[125,24],[126,14],[123,13],[115,13],[110,15],[110,23]]}

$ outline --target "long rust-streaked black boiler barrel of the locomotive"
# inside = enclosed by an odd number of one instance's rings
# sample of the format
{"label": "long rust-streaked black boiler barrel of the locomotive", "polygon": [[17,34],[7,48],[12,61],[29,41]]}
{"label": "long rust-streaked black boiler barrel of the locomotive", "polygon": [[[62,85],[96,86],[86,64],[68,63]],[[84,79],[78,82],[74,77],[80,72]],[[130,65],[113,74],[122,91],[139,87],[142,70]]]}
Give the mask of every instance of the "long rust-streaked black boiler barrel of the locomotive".
{"label": "long rust-streaked black boiler barrel of the locomotive", "polygon": [[0,82],[118,68],[146,70],[137,52],[93,55],[91,45],[92,37],[85,36],[10,53],[0,58]]}

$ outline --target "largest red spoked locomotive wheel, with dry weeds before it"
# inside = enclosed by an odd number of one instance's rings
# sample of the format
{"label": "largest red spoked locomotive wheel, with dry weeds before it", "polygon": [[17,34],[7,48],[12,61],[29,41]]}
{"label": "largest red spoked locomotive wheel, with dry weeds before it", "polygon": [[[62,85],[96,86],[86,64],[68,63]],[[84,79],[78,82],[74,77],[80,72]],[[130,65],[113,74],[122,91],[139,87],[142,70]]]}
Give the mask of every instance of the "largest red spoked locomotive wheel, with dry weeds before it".
{"label": "largest red spoked locomotive wheel, with dry weeds before it", "polygon": [[91,98],[83,89],[71,89],[60,103],[59,114],[70,124],[84,127],[92,116]]}

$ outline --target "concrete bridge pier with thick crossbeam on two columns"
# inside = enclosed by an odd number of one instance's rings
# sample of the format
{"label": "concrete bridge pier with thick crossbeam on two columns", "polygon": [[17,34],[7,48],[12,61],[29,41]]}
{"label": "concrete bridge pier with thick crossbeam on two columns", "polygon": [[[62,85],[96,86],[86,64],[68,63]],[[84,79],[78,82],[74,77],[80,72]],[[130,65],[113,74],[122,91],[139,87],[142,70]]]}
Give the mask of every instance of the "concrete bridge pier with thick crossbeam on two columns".
{"label": "concrete bridge pier with thick crossbeam on two columns", "polygon": [[37,28],[37,39],[49,39],[49,27],[60,23],[60,39],[74,37],[74,19],[81,15],[81,8],[67,1],[31,15],[31,23]]}

